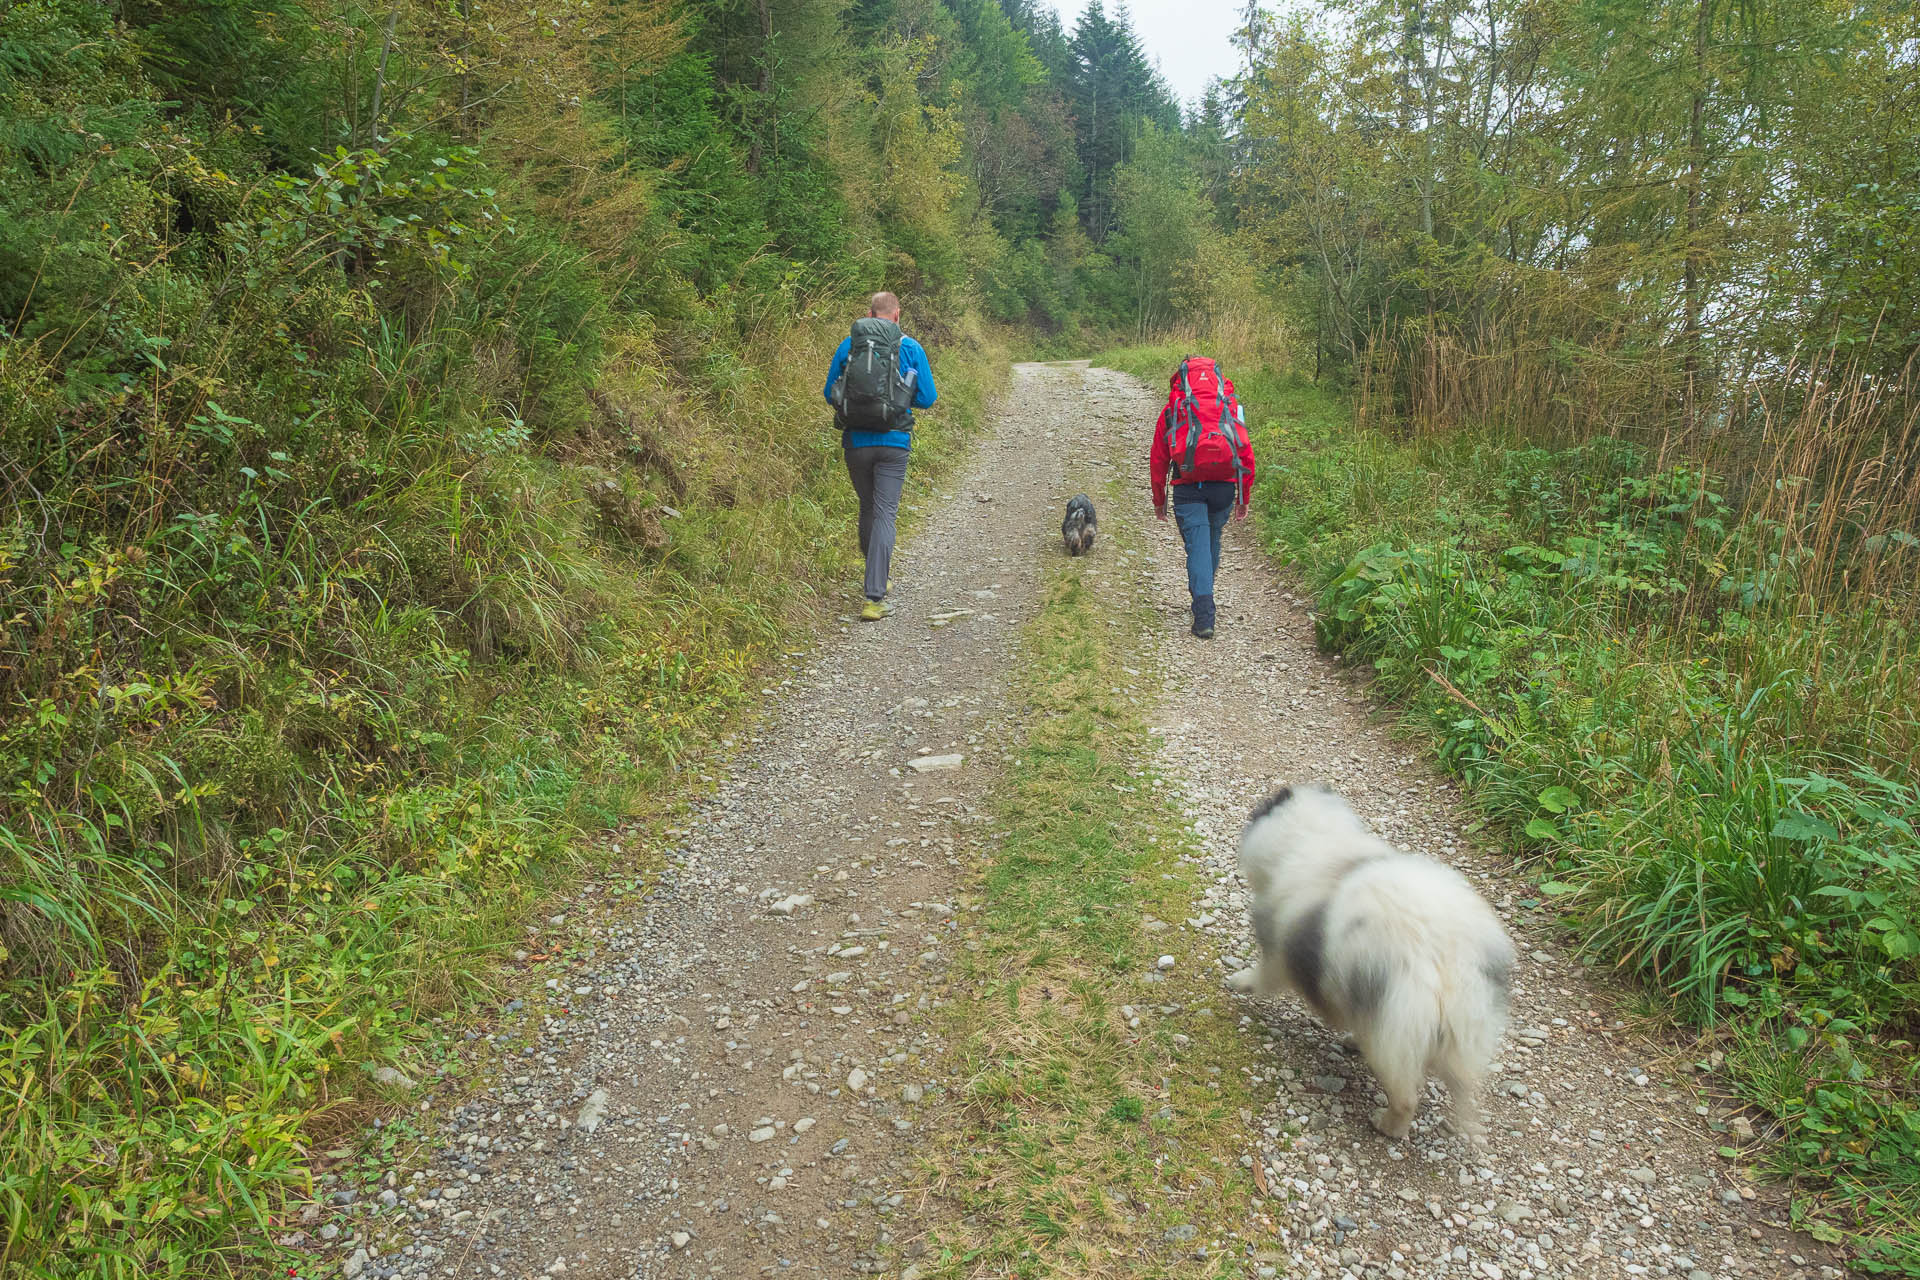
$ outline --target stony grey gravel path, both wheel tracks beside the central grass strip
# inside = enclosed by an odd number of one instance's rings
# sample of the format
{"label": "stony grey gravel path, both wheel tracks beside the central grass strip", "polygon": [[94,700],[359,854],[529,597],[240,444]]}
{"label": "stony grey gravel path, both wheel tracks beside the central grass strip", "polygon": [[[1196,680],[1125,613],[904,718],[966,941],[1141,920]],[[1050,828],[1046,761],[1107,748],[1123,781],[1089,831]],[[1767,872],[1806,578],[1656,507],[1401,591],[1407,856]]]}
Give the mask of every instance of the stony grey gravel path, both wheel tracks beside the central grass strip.
{"label": "stony grey gravel path, both wheel tracks beside the central grass strip", "polygon": [[[891,1274],[897,1224],[918,1234],[897,1188],[922,1103],[948,1086],[933,1015],[968,910],[960,858],[987,844],[979,806],[1016,741],[1006,676],[1060,555],[1062,484],[1135,476],[1156,409],[1137,382],[1073,365],[1018,367],[1010,403],[897,558],[899,612],[849,612],[791,656],[714,794],[668,833],[660,875],[614,867],[530,933],[522,998],[467,1032],[461,1092],[422,1103],[447,1146],[303,1226],[342,1274]],[[1144,486],[1100,516],[1152,526]],[[1730,1176],[1709,1128],[1724,1117],[1699,1115],[1693,1084],[1613,1021],[1521,906],[1528,887],[1465,839],[1448,783],[1315,652],[1304,603],[1244,528],[1210,645],[1185,635],[1171,526],[1146,545],[1119,568],[1165,603],[1162,766],[1213,879],[1194,940],[1223,969],[1244,961],[1240,821],[1273,783],[1321,779],[1388,839],[1465,867],[1523,950],[1478,1159],[1434,1109],[1409,1144],[1375,1136],[1365,1065],[1298,1006],[1244,1006],[1267,1046],[1254,1084],[1271,1103],[1246,1119],[1271,1194],[1227,1226],[1271,1242],[1260,1272],[1837,1274],[1770,1226],[1776,1194]]]}

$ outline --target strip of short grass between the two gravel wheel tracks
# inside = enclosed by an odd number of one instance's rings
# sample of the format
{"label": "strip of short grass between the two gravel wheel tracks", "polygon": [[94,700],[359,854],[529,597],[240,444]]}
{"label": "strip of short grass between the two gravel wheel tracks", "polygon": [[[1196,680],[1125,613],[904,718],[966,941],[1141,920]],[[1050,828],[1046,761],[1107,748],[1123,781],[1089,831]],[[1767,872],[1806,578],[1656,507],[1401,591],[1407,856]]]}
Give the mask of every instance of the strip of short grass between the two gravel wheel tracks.
{"label": "strip of short grass between the two gravel wheel tracks", "polygon": [[1139,670],[1146,614],[1114,572],[1125,551],[1108,537],[1062,560],[1023,643],[1027,735],[954,975],[960,1088],[924,1159],[958,1219],[908,1244],[912,1276],[1254,1268],[1238,1238],[1254,1044],[1179,923],[1200,871],[1150,768],[1156,681]]}

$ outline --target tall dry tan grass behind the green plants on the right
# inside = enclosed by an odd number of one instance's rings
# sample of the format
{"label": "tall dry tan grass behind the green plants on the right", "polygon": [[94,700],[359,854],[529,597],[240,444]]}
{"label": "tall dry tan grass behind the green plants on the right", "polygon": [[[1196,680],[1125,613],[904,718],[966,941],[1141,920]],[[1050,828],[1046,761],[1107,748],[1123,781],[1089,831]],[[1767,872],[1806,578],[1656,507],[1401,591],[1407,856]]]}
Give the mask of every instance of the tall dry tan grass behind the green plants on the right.
{"label": "tall dry tan grass behind the green plants on the right", "polygon": [[[1496,430],[1540,445],[1628,441],[1649,470],[1695,470],[1703,489],[1716,487],[1732,520],[1718,522],[1726,537],[1713,558],[1757,576],[1774,608],[1807,618],[1870,610],[1912,629],[1920,395],[1910,376],[1889,382],[1814,359],[1722,391],[1690,424],[1670,355],[1574,353],[1536,330],[1523,317],[1461,334],[1379,334],[1356,380],[1356,426],[1415,438]],[[1716,616],[1722,585],[1697,581],[1678,622]]]}

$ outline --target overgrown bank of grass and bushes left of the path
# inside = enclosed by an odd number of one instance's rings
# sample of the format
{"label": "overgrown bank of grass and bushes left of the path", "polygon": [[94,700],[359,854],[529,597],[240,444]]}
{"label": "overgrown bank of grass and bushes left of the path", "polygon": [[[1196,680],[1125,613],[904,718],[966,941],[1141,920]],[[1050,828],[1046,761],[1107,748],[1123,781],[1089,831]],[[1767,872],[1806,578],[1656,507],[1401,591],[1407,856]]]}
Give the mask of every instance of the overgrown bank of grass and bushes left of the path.
{"label": "overgrown bank of grass and bushes left of the path", "polygon": [[945,201],[755,157],[737,23],[461,13],[0,13],[10,1276],[269,1267],[582,837],[849,591],[852,297],[941,351],[922,484],[998,382],[889,259]]}

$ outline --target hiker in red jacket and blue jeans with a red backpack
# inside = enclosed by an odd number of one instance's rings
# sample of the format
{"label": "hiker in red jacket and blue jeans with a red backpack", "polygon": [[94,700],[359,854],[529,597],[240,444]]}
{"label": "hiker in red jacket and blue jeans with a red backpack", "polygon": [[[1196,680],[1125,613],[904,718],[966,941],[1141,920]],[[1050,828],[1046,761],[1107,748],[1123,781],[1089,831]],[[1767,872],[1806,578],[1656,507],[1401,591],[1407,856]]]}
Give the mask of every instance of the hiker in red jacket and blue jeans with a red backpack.
{"label": "hiker in red jacket and blue jeans with a red backpack", "polygon": [[1192,593],[1194,635],[1213,639],[1213,572],[1227,512],[1246,518],[1254,497],[1254,443],[1233,382],[1204,355],[1188,355],[1167,380],[1167,403],[1154,424],[1148,453],[1154,514],[1167,518],[1167,480],[1173,482],[1173,520],[1187,543],[1187,589]]}

